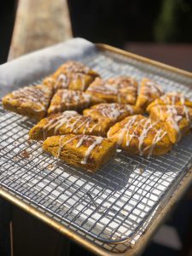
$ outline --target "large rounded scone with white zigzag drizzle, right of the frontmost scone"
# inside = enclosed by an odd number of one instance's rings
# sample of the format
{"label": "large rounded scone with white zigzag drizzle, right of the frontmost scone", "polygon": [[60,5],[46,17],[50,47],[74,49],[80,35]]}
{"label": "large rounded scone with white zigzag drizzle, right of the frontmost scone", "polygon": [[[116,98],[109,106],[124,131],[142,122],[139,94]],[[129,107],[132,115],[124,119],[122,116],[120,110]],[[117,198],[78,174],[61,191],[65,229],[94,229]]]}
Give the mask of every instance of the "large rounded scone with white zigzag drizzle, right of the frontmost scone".
{"label": "large rounded scone with white zigzag drizzle, right of the frontmost scone", "polygon": [[108,138],[115,139],[119,148],[131,154],[151,155],[166,154],[172,143],[160,122],[132,115],[113,125],[108,131]]}

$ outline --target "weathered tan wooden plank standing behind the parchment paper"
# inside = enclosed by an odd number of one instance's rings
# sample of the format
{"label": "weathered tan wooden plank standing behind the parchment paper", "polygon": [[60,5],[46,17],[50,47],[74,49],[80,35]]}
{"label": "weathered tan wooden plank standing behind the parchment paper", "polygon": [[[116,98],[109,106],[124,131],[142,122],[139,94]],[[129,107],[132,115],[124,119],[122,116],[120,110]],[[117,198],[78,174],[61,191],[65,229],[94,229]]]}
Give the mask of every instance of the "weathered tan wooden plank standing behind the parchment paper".
{"label": "weathered tan wooden plank standing behind the parchment paper", "polygon": [[67,0],[20,0],[9,60],[72,38]]}

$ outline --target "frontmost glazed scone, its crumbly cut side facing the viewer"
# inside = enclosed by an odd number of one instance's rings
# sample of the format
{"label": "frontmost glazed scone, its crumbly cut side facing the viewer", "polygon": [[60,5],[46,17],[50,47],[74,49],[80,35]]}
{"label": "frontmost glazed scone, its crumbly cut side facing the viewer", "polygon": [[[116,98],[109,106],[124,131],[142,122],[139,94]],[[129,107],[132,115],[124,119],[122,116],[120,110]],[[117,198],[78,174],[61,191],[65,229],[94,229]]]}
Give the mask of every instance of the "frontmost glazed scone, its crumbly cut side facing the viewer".
{"label": "frontmost glazed scone, its crumbly cut side facing the viewer", "polygon": [[43,148],[70,165],[96,172],[115,153],[115,142],[103,137],[68,134],[48,137]]}

